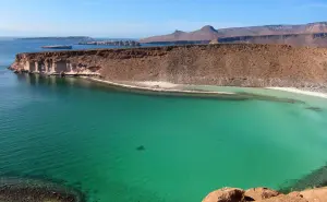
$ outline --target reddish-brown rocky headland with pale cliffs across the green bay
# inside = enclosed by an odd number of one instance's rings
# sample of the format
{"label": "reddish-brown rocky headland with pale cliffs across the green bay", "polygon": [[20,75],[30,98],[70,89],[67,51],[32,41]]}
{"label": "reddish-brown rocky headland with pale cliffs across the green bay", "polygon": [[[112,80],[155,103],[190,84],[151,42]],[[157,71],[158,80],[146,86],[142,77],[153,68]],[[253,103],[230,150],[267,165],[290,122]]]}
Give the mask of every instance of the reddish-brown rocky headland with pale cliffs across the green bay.
{"label": "reddish-brown rocky headland with pale cliffs across the green bay", "polygon": [[12,69],[29,68],[27,71],[32,71],[33,66],[38,67],[35,68],[38,72],[87,71],[122,82],[327,86],[327,49],[286,45],[194,45],[20,54]]}

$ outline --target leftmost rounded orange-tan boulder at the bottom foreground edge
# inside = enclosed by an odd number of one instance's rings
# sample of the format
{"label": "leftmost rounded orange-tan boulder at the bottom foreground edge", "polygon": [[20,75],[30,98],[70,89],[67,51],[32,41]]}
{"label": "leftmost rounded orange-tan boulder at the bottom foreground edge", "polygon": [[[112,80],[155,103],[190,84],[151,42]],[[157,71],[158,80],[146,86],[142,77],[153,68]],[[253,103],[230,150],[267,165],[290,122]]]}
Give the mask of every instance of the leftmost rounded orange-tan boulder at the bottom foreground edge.
{"label": "leftmost rounded orange-tan boulder at the bottom foreground edge", "polygon": [[222,188],[210,192],[202,202],[245,202],[244,190]]}

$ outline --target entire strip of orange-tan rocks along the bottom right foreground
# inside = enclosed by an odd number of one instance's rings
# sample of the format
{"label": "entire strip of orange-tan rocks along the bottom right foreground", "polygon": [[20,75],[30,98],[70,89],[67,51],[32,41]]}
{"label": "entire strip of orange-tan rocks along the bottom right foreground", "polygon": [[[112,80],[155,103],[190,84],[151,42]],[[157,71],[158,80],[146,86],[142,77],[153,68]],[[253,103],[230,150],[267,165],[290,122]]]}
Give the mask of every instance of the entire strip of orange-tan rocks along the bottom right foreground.
{"label": "entire strip of orange-tan rocks along the bottom right foreground", "polygon": [[253,188],[242,190],[237,188],[222,188],[210,192],[202,202],[326,202],[327,188],[304,190],[282,194],[268,188]]}

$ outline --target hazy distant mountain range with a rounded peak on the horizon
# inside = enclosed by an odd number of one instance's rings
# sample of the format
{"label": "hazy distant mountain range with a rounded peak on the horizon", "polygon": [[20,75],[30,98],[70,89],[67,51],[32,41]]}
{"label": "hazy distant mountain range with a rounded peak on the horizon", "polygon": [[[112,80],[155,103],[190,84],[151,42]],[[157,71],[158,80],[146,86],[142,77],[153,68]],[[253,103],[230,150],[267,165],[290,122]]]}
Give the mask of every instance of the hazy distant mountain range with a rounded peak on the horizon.
{"label": "hazy distant mountain range with a rounded peak on the horizon", "polygon": [[267,36],[267,35],[299,35],[327,33],[327,22],[308,23],[302,25],[264,25],[249,27],[233,27],[215,29],[206,25],[194,32],[175,31],[172,34],[153,36],[143,38],[141,43],[158,41],[194,41],[194,40],[214,40],[217,38],[237,37],[237,36]]}

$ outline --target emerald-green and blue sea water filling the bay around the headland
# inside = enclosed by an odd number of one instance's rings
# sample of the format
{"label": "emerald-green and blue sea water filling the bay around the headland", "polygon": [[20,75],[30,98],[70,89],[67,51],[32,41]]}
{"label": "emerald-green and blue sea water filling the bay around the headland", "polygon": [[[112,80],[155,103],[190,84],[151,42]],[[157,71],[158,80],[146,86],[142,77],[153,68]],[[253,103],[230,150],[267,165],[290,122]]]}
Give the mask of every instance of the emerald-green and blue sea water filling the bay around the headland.
{"label": "emerald-green and blue sea water filling the bay around the headland", "polygon": [[161,96],[7,70],[15,54],[53,44],[72,41],[0,40],[1,179],[57,181],[86,202],[199,202],[222,187],[327,182],[326,99],[213,86],[299,102]]}

